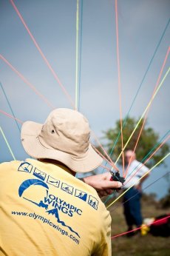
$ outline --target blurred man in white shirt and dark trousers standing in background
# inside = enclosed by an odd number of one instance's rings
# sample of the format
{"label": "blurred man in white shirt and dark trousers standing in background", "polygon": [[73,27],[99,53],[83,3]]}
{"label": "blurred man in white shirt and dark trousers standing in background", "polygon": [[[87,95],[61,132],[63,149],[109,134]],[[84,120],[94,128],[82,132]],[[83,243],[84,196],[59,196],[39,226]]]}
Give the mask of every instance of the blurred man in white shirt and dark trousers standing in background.
{"label": "blurred man in white shirt and dark trousers standing in background", "polygon": [[[124,216],[128,231],[130,231],[133,229],[134,225],[140,227],[143,223],[140,199],[142,195],[142,183],[149,175],[145,175],[143,178],[141,177],[148,172],[149,169],[136,160],[135,152],[132,150],[127,150],[125,152],[125,163],[125,167],[128,167],[128,173],[126,182],[124,183],[124,189],[129,189],[129,187],[132,186],[132,188],[123,195]],[[130,232],[128,234],[128,236],[132,235],[135,235],[135,232]]]}

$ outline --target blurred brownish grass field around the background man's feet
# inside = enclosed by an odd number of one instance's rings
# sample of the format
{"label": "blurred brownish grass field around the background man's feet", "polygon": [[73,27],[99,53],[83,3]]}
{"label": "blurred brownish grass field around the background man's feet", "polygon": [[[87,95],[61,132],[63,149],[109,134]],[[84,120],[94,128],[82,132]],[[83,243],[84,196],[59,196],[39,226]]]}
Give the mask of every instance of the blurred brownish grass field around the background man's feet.
{"label": "blurred brownish grass field around the background man's feet", "polygon": [[[126,232],[126,223],[123,216],[123,206],[120,202],[115,203],[109,208],[112,216],[112,236]],[[152,197],[143,196],[142,200],[143,218],[152,218],[166,213],[169,209],[161,209],[160,203],[154,201]],[[147,234],[141,236],[137,234],[131,238],[126,235],[112,239],[112,255],[118,256],[169,256],[170,255],[170,238],[154,237]]]}

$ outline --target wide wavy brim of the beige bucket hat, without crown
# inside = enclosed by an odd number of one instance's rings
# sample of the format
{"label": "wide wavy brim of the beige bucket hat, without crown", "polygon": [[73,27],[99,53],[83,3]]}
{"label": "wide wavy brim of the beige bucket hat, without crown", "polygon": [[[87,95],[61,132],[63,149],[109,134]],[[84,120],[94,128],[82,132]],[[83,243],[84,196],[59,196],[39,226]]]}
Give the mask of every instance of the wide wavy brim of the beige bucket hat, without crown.
{"label": "wide wavy brim of the beige bucket hat, without crown", "polygon": [[26,121],[22,125],[21,143],[27,154],[31,157],[60,161],[74,172],[90,172],[92,169],[96,169],[101,165],[103,159],[95,152],[91,144],[89,144],[89,149],[84,157],[76,157],[67,152],[42,145],[38,138],[42,127],[43,124],[38,124],[33,121]]}

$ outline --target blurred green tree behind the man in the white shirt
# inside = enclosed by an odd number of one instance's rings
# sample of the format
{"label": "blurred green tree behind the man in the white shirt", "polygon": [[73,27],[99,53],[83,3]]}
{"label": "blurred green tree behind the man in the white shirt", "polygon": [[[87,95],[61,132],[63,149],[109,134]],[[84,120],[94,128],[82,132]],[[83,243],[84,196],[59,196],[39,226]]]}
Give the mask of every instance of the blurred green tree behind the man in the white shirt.
{"label": "blurred green tree behind the man in the white shirt", "polygon": [[[126,124],[123,127],[123,146],[128,141],[130,135],[132,135],[132,132],[136,127],[137,121],[138,120],[135,120],[135,118],[127,118],[126,119]],[[122,124],[124,122],[125,122],[125,119],[122,120]],[[129,144],[126,146],[126,149],[134,150],[135,144],[137,142],[137,137],[140,133],[142,124],[143,124],[143,120],[140,122],[140,125],[137,127],[134,134],[132,135],[132,138],[129,141]],[[105,145],[107,147],[107,151],[108,151],[108,153],[112,152],[111,158],[113,161],[116,161],[116,159],[118,158],[118,155],[120,155],[120,152],[122,149],[121,136],[119,135],[120,134],[120,121],[116,122],[115,128],[108,129],[106,132],[103,132],[103,134],[104,134],[104,138],[107,141],[107,143]],[[118,138],[118,135],[119,135],[119,138]],[[118,138],[118,141],[117,141],[117,138]],[[160,141],[160,138],[159,138],[159,135],[157,134],[157,132],[154,132],[154,129],[152,129],[151,127],[144,126],[142,133],[140,135],[140,139],[137,144],[137,148],[135,150],[137,160],[142,161],[143,158],[145,158],[146,155],[148,155],[149,152],[154,148],[152,151],[152,153],[153,153],[154,150],[157,149],[157,147],[163,142],[163,141],[161,141],[161,142],[159,142],[159,141]],[[115,144],[115,147],[112,150],[112,147],[114,144]],[[169,144],[163,144],[163,146],[161,146],[160,149],[158,149],[156,154],[154,154],[152,156],[151,160],[149,160],[146,165],[149,167],[153,166],[158,161],[160,161],[160,159],[162,159],[163,156],[165,156],[167,152],[169,152]],[[148,155],[147,158],[149,158],[150,155]],[[145,158],[145,160],[147,158]],[[121,164],[121,159],[122,158],[120,158],[120,164]],[[162,164],[163,164],[163,162],[162,162]]]}

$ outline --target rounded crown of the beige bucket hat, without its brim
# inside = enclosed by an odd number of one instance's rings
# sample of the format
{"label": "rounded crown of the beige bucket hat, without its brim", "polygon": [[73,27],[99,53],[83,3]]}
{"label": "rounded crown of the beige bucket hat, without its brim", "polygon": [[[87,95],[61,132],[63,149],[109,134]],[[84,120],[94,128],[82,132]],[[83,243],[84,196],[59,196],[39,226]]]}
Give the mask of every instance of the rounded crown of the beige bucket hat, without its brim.
{"label": "rounded crown of the beige bucket hat, without its brim", "polygon": [[53,110],[38,138],[42,145],[81,157],[89,148],[89,122],[80,112]]}

